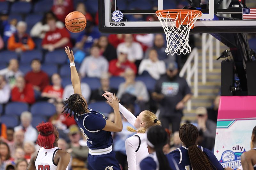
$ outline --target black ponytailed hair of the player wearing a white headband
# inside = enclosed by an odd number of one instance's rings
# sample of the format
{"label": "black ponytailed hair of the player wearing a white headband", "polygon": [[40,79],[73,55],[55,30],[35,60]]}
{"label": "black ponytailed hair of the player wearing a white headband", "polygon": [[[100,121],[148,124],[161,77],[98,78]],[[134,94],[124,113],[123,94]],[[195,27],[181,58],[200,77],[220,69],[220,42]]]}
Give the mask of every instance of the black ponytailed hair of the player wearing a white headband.
{"label": "black ponytailed hair of the player wearing a white headband", "polygon": [[156,157],[159,162],[159,170],[171,170],[163,147],[168,141],[168,135],[162,126],[151,126],[147,132],[148,141],[154,145]]}

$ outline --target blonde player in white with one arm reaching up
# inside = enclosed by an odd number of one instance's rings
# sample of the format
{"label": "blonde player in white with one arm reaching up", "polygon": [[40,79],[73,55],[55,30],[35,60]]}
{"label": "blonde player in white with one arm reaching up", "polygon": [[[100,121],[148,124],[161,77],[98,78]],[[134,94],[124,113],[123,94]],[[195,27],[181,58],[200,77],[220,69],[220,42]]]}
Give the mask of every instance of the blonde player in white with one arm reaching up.
{"label": "blonde player in white with one arm reaching up", "polygon": [[[113,93],[105,92],[104,96],[109,102],[112,102]],[[146,130],[154,125],[161,125],[161,122],[156,119],[156,115],[148,110],[144,110],[137,118],[127,110],[123,105],[119,103],[119,110],[136,129],[128,127],[131,132],[137,132],[137,134],[129,137],[125,141],[125,150],[127,155],[128,169],[140,170],[140,162],[144,158],[149,156],[147,134]]]}

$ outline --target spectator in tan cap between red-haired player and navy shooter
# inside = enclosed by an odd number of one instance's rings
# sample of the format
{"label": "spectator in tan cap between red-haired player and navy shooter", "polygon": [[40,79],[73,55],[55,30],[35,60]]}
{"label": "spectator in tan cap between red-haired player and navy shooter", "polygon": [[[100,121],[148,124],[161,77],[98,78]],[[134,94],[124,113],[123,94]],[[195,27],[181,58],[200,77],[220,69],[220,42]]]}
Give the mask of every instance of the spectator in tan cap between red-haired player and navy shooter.
{"label": "spectator in tan cap between red-haired player and navy shooter", "polygon": [[72,169],[84,170],[84,168],[87,167],[89,149],[87,146],[82,146],[80,144],[81,131],[77,125],[72,125],[69,127],[68,136],[71,142],[70,148],[67,150],[67,152],[69,152],[72,157]]}

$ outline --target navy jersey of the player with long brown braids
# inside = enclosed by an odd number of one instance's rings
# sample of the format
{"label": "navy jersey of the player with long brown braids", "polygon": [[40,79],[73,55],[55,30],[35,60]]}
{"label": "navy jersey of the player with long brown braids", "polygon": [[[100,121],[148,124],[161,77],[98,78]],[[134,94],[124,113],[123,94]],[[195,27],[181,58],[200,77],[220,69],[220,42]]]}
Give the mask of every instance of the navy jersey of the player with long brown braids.
{"label": "navy jersey of the player with long brown braids", "polygon": [[[215,155],[206,148],[203,148],[201,146],[198,146],[198,148],[205,153],[205,155],[209,158],[212,166],[214,166],[217,170],[223,170],[224,168],[221,166],[218,159],[215,157]],[[185,146],[182,146],[170,153],[167,154],[167,158],[173,157],[173,159],[179,163],[180,168],[183,170],[192,170],[192,166],[190,164],[189,156],[188,156],[188,148]],[[213,168],[213,169],[215,169]]]}

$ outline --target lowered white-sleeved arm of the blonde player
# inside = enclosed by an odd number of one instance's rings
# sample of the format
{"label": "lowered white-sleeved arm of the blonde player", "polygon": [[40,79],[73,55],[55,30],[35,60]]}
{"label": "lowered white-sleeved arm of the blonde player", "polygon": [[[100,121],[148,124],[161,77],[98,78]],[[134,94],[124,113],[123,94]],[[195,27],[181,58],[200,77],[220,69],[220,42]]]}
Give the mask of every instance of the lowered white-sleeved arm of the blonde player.
{"label": "lowered white-sleeved arm of the blonde player", "polygon": [[[128,139],[125,140],[125,151],[127,155],[128,170],[137,169],[135,146],[138,146],[138,144],[136,145],[136,140],[132,139],[134,139],[134,137],[129,137]],[[139,143],[138,137],[137,140],[137,143]]]}

